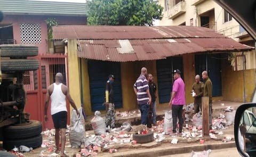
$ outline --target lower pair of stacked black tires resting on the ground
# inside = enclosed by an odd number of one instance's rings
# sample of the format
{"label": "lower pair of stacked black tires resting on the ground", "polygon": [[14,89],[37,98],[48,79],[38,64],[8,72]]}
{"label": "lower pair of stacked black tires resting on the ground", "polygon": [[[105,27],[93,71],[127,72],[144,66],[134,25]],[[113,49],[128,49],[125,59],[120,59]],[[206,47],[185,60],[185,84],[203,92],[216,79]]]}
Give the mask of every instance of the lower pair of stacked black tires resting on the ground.
{"label": "lower pair of stacked black tires resting on the ground", "polygon": [[11,125],[4,128],[3,147],[12,150],[15,146],[39,147],[43,142],[42,122],[29,120],[28,122]]}

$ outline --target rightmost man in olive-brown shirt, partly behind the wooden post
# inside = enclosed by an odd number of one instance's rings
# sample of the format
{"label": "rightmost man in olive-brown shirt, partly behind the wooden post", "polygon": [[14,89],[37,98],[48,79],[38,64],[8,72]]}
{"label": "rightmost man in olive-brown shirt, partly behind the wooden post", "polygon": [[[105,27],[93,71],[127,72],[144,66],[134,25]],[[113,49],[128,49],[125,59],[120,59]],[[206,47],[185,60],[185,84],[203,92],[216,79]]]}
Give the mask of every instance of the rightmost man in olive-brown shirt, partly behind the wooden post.
{"label": "rightmost man in olive-brown shirt, partly behind the wooden post", "polygon": [[202,72],[202,78],[205,80],[204,97],[209,97],[209,127],[212,129],[212,81],[208,77],[207,71]]}

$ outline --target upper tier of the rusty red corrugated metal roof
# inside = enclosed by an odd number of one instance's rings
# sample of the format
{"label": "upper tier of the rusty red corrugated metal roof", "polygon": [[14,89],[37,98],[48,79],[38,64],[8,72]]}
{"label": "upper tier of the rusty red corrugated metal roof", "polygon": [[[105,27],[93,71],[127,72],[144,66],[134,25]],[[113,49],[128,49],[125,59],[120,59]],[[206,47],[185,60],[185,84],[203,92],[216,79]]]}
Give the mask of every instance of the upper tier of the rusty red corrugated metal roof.
{"label": "upper tier of the rusty red corrugated metal roof", "polygon": [[226,38],[212,29],[193,26],[55,26],[54,39]]}

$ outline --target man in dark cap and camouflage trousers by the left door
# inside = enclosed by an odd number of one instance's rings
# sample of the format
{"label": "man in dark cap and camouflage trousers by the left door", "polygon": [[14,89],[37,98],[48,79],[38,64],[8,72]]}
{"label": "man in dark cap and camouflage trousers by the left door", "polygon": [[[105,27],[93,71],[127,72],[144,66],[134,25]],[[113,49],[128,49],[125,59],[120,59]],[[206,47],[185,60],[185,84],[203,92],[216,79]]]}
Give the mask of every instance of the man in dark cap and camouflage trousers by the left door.
{"label": "man in dark cap and camouflage trousers by the left door", "polygon": [[115,128],[115,120],[116,120],[116,114],[115,114],[115,105],[114,105],[114,88],[113,88],[113,82],[114,82],[114,75],[108,76],[108,81],[106,84],[106,127]]}

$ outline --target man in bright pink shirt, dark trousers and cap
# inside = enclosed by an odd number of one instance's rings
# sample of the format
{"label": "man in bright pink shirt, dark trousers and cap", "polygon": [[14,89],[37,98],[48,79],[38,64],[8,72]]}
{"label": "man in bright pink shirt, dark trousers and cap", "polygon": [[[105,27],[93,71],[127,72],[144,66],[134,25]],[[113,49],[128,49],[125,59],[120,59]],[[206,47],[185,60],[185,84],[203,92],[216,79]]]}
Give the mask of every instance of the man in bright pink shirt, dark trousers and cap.
{"label": "man in bright pink shirt, dark trousers and cap", "polygon": [[172,123],[173,123],[173,135],[177,134],[177,117],[179,118],[179,135],[182,135],[183,127],[183,117],[182,109],[185,105],[185,84],[180,77],[180,70],[173,71],[174,83],[172,86],[171,100],[169,102],[170,108],[172,110]]}

